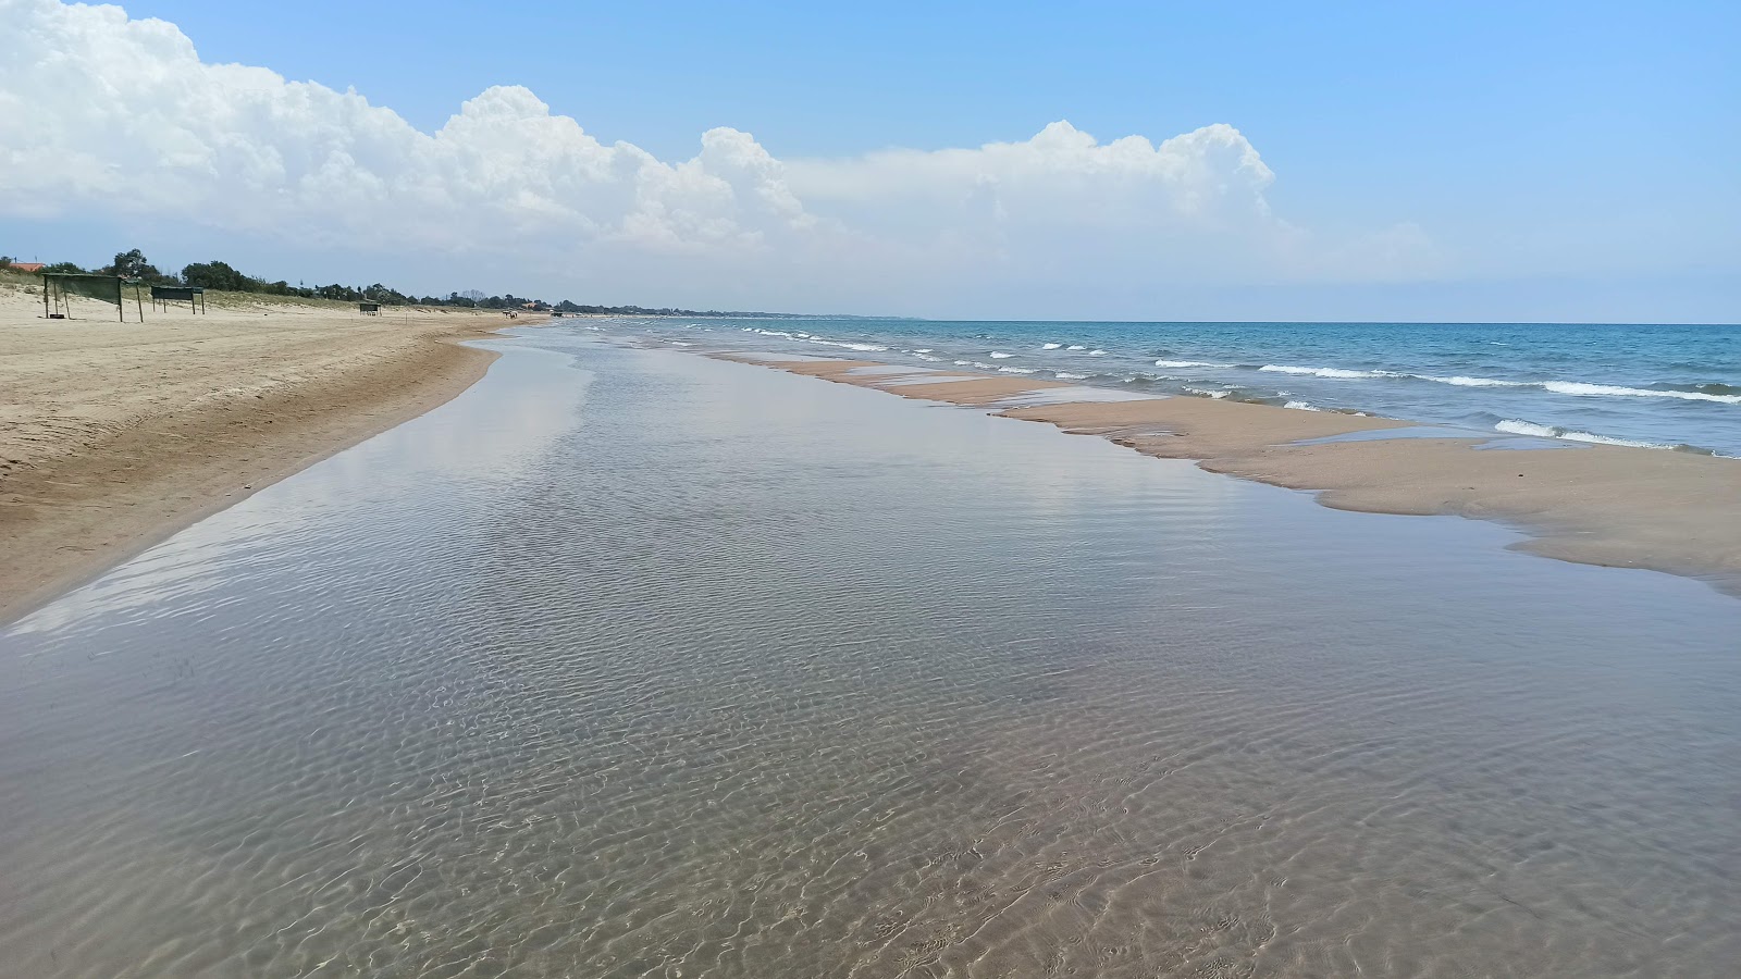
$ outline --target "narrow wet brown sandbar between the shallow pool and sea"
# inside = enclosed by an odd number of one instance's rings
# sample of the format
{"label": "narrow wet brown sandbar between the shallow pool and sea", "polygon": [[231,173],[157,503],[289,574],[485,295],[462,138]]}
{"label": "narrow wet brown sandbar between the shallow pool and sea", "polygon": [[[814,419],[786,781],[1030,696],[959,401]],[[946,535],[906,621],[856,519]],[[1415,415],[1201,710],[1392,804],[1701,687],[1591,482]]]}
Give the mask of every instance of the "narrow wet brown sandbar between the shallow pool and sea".
{"label": "narrow wet brown sandbar between the shallow pool and sea", "polygon": [[1210,472],[1318,491],[1328,507],[1499,521],[1529,533],[1516,547],[1534,554],[1687,575],[1741,594],[1741,460],[1600,444],[1496,449],[1483,448],[1494,437],[1473,434],[1297,444],[1412,423],[1194,397],[1079,402],[1069,401],[1071,392],[1095,388],[992,375],[924,383],[923,371],[893,373],[874,361],[716,355],[961,406],[998,408],[1029,392],[1050,394],[1057,402],[1001,415],[1102,435],[1151,456],[1196,460]]}

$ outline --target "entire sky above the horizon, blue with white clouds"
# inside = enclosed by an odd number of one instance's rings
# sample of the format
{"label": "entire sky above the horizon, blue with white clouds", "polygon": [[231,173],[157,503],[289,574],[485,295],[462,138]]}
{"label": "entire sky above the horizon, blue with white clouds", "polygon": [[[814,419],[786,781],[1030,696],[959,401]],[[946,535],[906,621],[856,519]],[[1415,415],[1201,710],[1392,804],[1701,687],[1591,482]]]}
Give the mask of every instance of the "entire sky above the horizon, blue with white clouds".
{"label": "entire sky above the horizon, blue with white clouds", "polygon": [[1741,321],[1741,5],[0,0],[0,254],[952,319]]}

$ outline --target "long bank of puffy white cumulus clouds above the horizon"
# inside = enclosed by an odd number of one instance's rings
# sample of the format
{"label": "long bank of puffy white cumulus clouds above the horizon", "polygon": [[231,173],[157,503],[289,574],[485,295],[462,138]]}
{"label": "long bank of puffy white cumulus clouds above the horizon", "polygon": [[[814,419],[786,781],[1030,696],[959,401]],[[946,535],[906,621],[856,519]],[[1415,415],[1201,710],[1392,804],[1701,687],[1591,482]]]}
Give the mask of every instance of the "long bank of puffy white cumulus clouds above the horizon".
{"label": "long bank of puffy white cumulus clouds above the horizon", "polygon": [[120,7],[0,0],[0,216],[176,216],[214,233],[428,254],[494,249],[571,282],[662,282],[890,308],[1020,284],[1301,282],[1412,275],[1414,226],[1320,242],[1271,213],[1234,127],[780,160],[710,129],[689,160],[602,143],[522,87],[435,132],[362,94],[207,64]]}

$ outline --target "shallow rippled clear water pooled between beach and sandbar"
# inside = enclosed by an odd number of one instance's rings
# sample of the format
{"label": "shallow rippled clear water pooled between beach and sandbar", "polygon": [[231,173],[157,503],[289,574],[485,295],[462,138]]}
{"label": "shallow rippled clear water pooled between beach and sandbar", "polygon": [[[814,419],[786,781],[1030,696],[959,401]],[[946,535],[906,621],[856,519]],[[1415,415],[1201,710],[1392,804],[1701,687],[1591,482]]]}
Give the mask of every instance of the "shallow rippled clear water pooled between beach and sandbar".
{"label": "shallow rippled clear water pooled between beach and sandbar", "polygon": [[1734,599],[1045,425],[510,347],[0,634],[0,974],[1741,958]]}

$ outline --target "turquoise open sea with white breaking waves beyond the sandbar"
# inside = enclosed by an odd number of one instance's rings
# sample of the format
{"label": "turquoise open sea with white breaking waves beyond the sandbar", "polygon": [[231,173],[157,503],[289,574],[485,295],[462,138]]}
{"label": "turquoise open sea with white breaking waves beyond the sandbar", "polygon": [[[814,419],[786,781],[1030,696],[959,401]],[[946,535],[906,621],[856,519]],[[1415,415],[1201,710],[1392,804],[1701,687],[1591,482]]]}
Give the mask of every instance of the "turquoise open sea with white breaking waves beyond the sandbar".
{"label": "turquoise open sea with white breaking waves beyond the sandbar", "polygon": [[623,319],[602,329],[1741,456],[1741,326]]}

